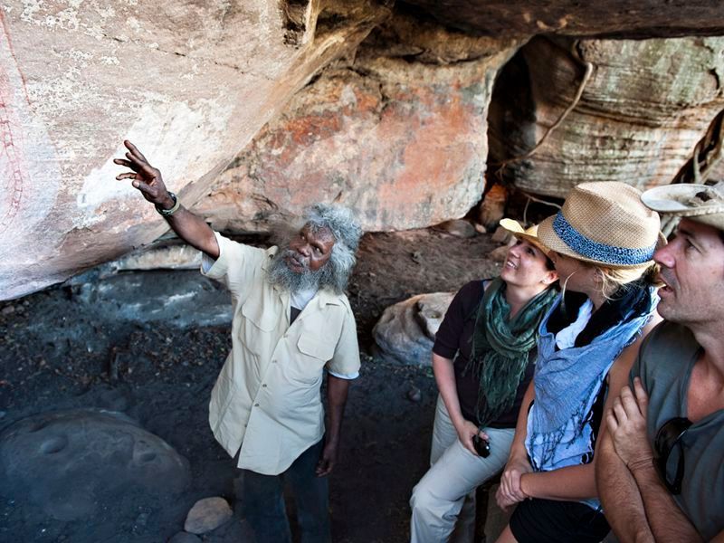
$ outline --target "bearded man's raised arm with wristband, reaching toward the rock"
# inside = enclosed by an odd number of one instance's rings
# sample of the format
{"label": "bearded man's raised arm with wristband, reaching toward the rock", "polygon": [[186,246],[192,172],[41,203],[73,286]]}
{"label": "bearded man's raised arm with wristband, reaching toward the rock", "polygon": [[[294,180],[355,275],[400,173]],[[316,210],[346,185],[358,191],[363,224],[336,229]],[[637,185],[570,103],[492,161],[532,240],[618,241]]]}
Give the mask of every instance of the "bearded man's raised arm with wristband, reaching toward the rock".
{"label": "bearded man's raised arm with wristband, reaching toward the rock", "polygon": [[138,188],[148,202],[156,205],[158,213],[163,215],[178,237],[214,260],[219,258],[219,243],[211,227],[177,202],[176,196],[169,193],[164,185],[161,172],[148,164],[146,157],[135,145],[129,140],[124,141],[123,145],[129,149],[126,158],[114,158],[113,162],[133,171],[119,174],[116,179],[133,179],[131,184]]}

